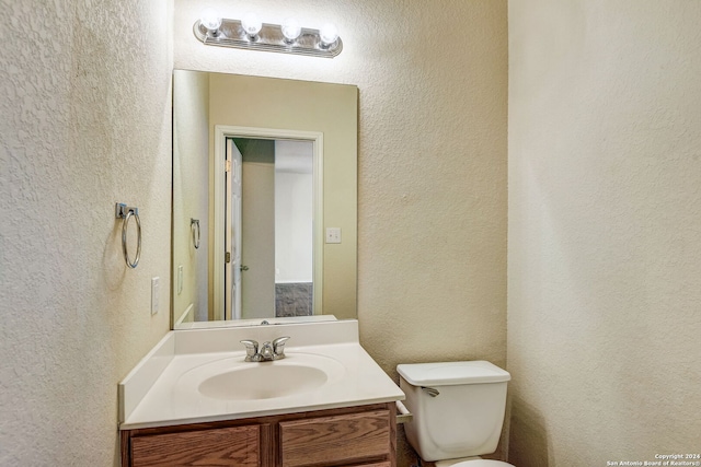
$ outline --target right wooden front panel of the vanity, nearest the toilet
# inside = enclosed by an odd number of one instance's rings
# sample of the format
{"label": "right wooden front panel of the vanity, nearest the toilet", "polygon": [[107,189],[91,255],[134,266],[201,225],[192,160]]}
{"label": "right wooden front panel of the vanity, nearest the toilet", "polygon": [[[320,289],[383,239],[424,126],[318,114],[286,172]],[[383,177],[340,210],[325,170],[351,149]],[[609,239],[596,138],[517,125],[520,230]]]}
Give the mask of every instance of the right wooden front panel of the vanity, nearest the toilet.
{"label": "right wooden front panel of the vanity, nearest the toilet", "polygon": [[390,412],[374,410],[286,421],[280,427],[283,467],[361,464],[390,453]]}

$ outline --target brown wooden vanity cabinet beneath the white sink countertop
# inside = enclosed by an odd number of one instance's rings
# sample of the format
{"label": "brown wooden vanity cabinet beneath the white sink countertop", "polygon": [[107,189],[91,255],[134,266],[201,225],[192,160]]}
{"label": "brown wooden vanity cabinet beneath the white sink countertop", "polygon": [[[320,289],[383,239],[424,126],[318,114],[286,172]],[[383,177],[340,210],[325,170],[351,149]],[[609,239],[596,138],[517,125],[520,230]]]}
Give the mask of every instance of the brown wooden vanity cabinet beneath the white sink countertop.
{"label": "brown wooden vanity cabinet beneath the white sink countertop", "polygon": [[394,404],[122,432],[123,467],[395,467]]}

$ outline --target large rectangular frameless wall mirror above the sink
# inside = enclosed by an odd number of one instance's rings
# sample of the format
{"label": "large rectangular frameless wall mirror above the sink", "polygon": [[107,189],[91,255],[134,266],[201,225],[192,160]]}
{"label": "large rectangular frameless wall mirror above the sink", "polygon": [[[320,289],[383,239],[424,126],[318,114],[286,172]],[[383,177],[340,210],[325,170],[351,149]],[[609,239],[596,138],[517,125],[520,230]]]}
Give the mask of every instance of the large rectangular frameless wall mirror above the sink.
{"label": "large rectangular frameless wall mirror above the sink", "polygon": [[174,329],[357,316],[357,98],[174,71]]}

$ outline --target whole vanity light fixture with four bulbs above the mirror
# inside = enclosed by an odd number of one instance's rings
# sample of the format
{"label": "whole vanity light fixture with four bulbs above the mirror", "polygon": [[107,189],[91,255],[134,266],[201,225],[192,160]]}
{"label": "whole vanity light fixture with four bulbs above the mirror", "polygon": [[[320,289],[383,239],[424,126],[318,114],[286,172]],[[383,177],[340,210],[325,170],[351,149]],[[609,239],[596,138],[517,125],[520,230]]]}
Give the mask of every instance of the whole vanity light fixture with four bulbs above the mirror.
{"label": "whole vanity light fixture with four bulbs above the mirror", "polygon": [[338,30],[331,23],[321,30],[301,27],[295,19],[285,20],[281,25],[266,24],[255,13],[246,13],[241,20],[228,20],[211,8],[202,12],[193,33],[208,46],[326,58],[337,56],[343,49]]}

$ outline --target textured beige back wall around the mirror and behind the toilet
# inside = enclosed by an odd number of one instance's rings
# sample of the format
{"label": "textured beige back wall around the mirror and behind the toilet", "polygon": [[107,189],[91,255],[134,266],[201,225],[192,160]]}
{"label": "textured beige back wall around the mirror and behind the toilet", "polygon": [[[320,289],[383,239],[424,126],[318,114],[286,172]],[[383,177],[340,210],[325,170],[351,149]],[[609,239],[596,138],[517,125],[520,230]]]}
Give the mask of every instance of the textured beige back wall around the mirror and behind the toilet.
{"label": "textured beige back wall around the mirror and behind the toilet", "polygon": [[[192,26],[205,3],[333,21],[343,52],[204,46]],[[403,362],[506,363],[506,4],[175,0],[175,68],[358,86],[360,338],[393,377]]]}

